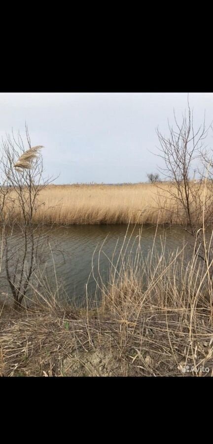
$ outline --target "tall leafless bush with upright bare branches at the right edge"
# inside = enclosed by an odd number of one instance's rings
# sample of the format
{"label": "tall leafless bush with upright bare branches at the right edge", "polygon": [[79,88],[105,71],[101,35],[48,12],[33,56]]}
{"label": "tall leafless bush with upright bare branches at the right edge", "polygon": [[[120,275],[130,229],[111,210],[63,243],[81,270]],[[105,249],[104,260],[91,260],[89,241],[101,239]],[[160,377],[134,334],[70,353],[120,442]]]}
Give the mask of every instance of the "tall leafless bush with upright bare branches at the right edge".
{"label": "tall leafless bush with upright bare branches at the right edge", "polygon": [[[206,265],[209,288],[213,287],[213,175],[211,173],[211,151],[204,146],[211,125],[206,128],[205,117],[199,128],[194,127],[193,111],[188,103],[188,110],[180,123],[174,111],[175,128],[169,123],[169,136],[164,136],[157,129],[160,142],[158,154],[164,160],[160,168],[168,181],[165,210],[171,211],[177,223],[192,238],[192,256],[201,259]],[[197,163],[198,180],[195,181]],[[192,178],[192,172],[194,177]],[[158,207],[162,210],[162,187],[157,186]],[[172,202],[169,210],[168,202]],[[171,216],[172,218],[172,216]],[[190,243],[189,243],[190,247]],[[212,291],[209,292],[213,307]]]}

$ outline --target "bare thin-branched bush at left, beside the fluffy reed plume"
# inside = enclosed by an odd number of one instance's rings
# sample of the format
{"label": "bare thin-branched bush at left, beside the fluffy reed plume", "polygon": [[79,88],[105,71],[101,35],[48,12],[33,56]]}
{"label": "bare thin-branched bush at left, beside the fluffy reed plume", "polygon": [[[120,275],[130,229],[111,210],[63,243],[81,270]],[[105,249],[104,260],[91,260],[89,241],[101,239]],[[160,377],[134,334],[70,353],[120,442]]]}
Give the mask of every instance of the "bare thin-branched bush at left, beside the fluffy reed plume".
{"label": "bare thin-branched bush at left, beside the fluffy reed plume", "polygon": [[17,137],[13,132],[12,136],[6,135],[0,158],[1,259],[17,308],[48,249],[44,224],[35,225],[33,218],[43,204],[38,199],[41,189],[52,181],[43,177],[39,153],[43,147],[31,147],[27,126],[25,136],[27,149],[20,133]]}

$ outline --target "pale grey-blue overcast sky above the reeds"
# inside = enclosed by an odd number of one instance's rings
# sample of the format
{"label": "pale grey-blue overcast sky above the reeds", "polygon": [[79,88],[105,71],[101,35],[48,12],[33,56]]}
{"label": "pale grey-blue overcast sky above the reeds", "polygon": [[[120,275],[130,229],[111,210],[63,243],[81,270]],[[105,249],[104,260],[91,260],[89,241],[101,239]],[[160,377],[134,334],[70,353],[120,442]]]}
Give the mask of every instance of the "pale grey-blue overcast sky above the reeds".
{"label": "pale grey-blue overcast sky above the reeds", "polygon": [[[211,123],[213,93],[189,93],[189,103],[195,127],[205,111]],[[186,107],[186,93],[0,93],[0,137],[24,136],[26,121],[56,184],[146,182],[163,166],[156,127],[169,135],[174,109],[181,120]]]}

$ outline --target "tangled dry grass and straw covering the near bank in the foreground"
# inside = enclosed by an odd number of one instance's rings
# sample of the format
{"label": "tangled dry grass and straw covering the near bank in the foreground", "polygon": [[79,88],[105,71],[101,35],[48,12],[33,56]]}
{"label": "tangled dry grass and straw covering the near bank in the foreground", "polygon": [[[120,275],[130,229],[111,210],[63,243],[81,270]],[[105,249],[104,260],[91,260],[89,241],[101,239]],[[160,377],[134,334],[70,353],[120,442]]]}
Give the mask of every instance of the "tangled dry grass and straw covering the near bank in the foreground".
{"label": "tangled dry grass and straw covering the near bank in the foreground", "polygon": [[[42,376],[213,376],[213,282],[188,246],[168,255],[153,243],[143,258],[109,259],[102,298],[63,306],[60,289],[35,289],[35,305],[0,316],[0,374]],[[52,296],[51,296],[52,295]],[[36,299],[37,297],[37,299]]]}

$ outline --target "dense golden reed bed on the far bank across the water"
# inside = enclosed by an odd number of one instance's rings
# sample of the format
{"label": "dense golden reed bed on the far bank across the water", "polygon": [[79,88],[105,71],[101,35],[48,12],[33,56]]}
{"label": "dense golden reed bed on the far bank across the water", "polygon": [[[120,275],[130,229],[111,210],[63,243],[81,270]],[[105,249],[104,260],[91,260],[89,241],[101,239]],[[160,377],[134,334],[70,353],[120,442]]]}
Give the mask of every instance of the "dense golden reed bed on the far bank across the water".
{"label": "dense golden reed bed on the far bank across the water", "polygon": [[[40,191],[33,220],[51,224],[184,222],[182,208],[178,209],[177,199],[169,195],[171,185],[160,186],[49,185]],[[14,215],[19,217],[18,208]]]}

